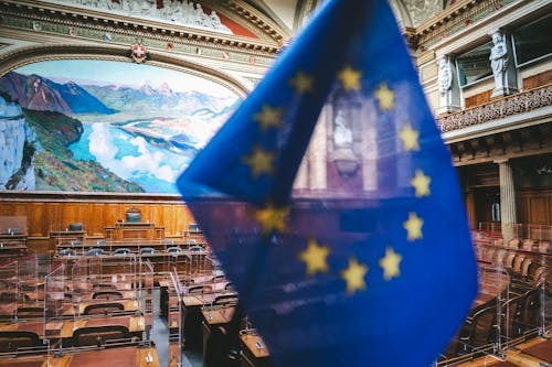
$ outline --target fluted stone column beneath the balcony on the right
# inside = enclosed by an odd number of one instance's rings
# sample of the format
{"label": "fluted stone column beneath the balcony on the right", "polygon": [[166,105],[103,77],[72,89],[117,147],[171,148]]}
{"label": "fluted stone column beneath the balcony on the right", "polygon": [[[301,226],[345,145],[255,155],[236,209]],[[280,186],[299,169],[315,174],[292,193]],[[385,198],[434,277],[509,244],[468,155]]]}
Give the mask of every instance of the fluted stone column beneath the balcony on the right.
{"label": "fluted stone column beneath the balcony on the right", "polygon": [[516,237],[516,191],[508,160],[497,161],[500,177],[500,223],[505,242]]}

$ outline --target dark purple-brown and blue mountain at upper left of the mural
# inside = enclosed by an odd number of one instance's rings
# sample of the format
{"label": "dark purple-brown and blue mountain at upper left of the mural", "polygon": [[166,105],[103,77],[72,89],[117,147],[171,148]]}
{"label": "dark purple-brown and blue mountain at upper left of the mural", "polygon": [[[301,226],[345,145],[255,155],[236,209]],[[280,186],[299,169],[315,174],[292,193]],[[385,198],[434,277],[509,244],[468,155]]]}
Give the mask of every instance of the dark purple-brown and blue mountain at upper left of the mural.
{"label": "dark purple-brown and blue mountain at upper left of the mural", "polygon": [[59,84],[39,75],[10,72],[0,78],[4,91],[21,107],[62,114],[114,114],[99,99],[76,83]]}

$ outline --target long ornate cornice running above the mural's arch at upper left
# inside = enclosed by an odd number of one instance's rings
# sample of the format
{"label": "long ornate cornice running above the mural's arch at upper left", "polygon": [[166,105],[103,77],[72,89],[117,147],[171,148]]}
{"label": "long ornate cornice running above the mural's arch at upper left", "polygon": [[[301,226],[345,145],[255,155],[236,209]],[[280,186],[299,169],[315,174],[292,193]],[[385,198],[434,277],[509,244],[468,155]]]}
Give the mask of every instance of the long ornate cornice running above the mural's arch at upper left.
{"label": "long ornate cornice running above the mural's arch at upper left", "polygon": [[[197,52],[195,47],[206,47],[217,51],[217,57],[222,57],[223,51],[231,54],[230,60],[233,54],[247,54],[255,56],[255,63],[265,65],[270,64],[280,50],[280,44],[268,35],[266,40],[229,35],[148,19],[130,20],[118,14],[84,11],[50,2],[4,0],[0,18],[0,24],[4,28],[125,44],[132,44],[140,39],[148,47],[190,54]],[[173,47],[169,47],[169,44]],[[178,45],[185,45],[189,50]]]}

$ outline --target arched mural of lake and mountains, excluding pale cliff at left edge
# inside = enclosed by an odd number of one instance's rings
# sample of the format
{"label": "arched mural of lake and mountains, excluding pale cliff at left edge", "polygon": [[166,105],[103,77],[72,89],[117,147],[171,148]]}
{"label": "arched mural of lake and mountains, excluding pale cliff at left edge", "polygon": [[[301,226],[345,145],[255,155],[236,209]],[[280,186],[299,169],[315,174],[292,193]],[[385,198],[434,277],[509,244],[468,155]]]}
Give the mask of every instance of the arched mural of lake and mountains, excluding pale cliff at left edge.
{"label": "arched mural of lake and mountains, excluding pale cliff at left edge", "polygon": [[0,94],[21,106],[34,175],[25,188],[36,191],[177,193],[178,175],[241,102],[191,74],[84,60],[20,67]]}

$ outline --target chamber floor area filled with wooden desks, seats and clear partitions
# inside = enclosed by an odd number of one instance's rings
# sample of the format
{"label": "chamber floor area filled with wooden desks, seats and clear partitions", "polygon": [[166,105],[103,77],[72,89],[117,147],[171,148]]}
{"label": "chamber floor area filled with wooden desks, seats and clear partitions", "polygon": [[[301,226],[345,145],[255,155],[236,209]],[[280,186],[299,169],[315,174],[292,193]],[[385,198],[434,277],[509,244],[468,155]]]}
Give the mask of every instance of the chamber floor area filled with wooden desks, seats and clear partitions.
{"label": "chamber floor area filled with wooden desks, seats and clear partitions", "polygon": [[[549,244],[473,235],[479,295],[434,365],[551,365]],[[137,245],[3,253],[0,366],[221,366],[237,294],[209,246]],[[262,336],[246,316],[238,323],[234,365],[268,366]]]}

